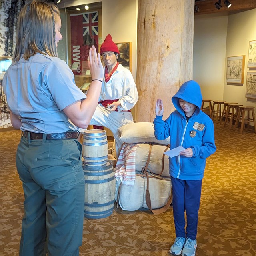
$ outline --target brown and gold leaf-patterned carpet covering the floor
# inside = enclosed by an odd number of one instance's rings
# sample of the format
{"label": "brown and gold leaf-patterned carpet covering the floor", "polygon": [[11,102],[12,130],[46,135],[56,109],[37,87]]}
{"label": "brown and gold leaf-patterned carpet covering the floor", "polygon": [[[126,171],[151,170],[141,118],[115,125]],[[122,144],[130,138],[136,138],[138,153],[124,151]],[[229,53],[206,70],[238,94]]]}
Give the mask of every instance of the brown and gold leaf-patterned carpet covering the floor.
{"label": "brown and gold leaf-patterned carpet covering the floor", "polygon": [[[197,256],[256,255],[256,134],[215,124],[217,152],[208,158],[199,211]],[[0,256],[17,256],[22,185],[15,152],[20,132],[0,132]],[[114,208],[84,220],[80,256],[163,256],[175,238],[172,208],[160,215]],[[29,255],[28,255],[29,256]]]}

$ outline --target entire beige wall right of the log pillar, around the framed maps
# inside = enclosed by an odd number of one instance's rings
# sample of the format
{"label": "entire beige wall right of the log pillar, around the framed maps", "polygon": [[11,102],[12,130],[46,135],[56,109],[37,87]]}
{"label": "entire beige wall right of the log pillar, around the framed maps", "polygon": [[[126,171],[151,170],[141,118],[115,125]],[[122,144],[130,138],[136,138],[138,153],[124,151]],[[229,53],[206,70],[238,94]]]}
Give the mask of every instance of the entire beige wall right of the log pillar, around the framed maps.
{"label": "entire beige wall right of the log pillar, around the framed maps", "polygon": [[[201,85],[204,98],[256,107],[255,100],[245,97],[249,41],[256,40],[255,17],[256,9],[229,16],[195,16],[193,79]],[[244,83],[227,84],[227,57],[240,55],[245,55]]]}

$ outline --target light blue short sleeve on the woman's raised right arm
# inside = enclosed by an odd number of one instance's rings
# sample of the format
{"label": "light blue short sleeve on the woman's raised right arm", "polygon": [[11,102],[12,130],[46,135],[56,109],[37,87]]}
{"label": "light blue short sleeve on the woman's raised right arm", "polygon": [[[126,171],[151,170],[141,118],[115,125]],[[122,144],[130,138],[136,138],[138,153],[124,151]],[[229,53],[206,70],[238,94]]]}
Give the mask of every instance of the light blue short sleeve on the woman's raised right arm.
{"label": "light blue short sleeve on the woman's raised right arm", "polygon": [[55,59],[50,62],[44,70],[42,79],[60,110],[86,98],[76,86],[74,74],[63,60]]}

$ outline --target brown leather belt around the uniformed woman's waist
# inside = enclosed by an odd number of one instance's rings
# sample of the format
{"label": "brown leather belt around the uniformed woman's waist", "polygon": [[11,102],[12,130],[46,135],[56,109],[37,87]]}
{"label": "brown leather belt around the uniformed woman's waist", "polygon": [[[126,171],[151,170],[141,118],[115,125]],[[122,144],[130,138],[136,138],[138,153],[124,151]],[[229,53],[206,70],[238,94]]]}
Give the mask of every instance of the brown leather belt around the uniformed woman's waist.
{"label": "brown leather belt around the uniformed woman's waist", "polygon": [[[28,131],[22,132],[22,137],[28,138]],[[76,139],[78,132],[62,132],[46,134],[46,140]],[[42,140],[43,133],[30,132],[30,140]]]}

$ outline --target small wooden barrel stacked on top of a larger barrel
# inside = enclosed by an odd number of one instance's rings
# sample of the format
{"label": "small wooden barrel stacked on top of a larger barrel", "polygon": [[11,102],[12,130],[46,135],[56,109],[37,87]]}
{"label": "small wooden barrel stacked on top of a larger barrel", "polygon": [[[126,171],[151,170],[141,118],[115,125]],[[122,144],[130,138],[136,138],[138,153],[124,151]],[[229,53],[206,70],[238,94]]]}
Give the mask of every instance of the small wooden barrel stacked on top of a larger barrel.
{"label": "small wooden barrel stacked on top of a larger barrel", "polygon": [[91,129],[83,136],[84,164],[89,166],[105,165],[108,160],[108,139],[105,130]]}

